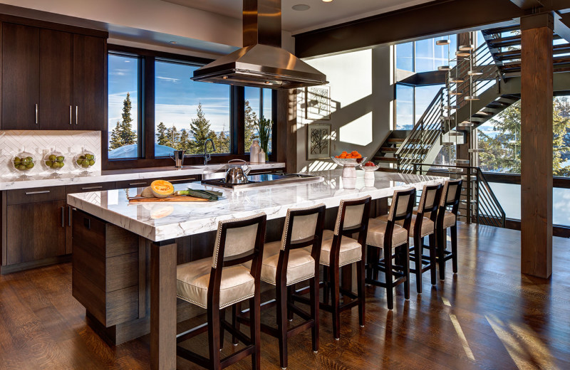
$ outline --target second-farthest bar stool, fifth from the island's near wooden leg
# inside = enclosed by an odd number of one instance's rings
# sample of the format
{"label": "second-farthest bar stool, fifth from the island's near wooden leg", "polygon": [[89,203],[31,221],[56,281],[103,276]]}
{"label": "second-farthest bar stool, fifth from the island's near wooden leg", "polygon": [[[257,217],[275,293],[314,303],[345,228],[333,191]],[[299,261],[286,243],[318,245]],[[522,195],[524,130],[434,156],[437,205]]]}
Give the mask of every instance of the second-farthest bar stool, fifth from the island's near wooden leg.
{"label": "second-farthest bar stool, fifth from the island's near wooden leg", "polygon": [[[442,185],[424,185],[418,211],[414,211],[410,223],[410,238],[413,238],[414,245],[410,248],[410,260],[415,263],[415,268],[410,269],[415,273],[415,286],[418,293],[422,292],[422,274],[430,270],[432,285],[437,283],[436,260],[437,243],[435,221],[437,219],[437,208],[440,206]],[[397,221],[403,226],[403,221]],[[429,245],[423,243],[428,236]],[[430,250],[430,256],[423,254],[423,249]]]}

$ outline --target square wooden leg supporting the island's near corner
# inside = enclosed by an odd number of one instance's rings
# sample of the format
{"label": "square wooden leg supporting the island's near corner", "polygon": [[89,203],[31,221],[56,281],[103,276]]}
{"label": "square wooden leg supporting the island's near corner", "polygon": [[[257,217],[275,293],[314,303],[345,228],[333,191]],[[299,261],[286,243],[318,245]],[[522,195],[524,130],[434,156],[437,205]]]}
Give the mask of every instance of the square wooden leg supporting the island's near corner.
{"label": "square wooden leg supporting the island's near corner", "polygon": [[176,369],[176,243],[150,247],[150,369]]}

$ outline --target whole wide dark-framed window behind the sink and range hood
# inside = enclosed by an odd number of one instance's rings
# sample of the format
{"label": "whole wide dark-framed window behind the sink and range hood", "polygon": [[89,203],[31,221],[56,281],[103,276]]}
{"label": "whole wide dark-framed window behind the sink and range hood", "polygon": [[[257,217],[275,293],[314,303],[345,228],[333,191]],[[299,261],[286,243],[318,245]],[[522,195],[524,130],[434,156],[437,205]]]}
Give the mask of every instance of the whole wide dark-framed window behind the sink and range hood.
{"label": "whole wide dark-framed window behind the sink and range hood", "polygon": [[[274,120],[276,94],[270,89],[194,82],[194,71],[211,60],[109,45],[108,140],[103,142],[103,169],[172,166],[173,150],[186,150],[185,165],[202,164],[204,142],[212,139],[210,163],[249,159],[249,124],[261,116]],[[247,95],[247,97],[246,97]],[[246,102],[247,100],[247,102]],[[247,107],[246,107],[247,105]],[[253,133],[252,133],[253,132]],[[269,137],[271,150],[276,134]],[[239,146],[237,145],[239,143]],[[247,149],[244,144],[247,144]]]}

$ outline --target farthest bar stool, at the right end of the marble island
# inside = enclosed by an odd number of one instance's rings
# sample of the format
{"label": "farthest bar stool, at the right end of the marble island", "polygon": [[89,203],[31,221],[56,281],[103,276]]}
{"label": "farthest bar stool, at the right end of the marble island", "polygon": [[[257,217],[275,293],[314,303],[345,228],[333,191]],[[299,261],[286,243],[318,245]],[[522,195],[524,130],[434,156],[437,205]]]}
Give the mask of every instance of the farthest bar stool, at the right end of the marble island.
{"label": "farthest bar stool, at the right end of the marble island", "polygon": [[[445,280],[445,262],[452,260],[453,273],[457,273],[457,211],[461,198],[462,179],[447,180],[443,185],[440,208],[437,211],[437,262],[440,280]],[[447,209],[450,209],[447,211]],[[451,252],[447,250],[447,228],[451,234]]]}

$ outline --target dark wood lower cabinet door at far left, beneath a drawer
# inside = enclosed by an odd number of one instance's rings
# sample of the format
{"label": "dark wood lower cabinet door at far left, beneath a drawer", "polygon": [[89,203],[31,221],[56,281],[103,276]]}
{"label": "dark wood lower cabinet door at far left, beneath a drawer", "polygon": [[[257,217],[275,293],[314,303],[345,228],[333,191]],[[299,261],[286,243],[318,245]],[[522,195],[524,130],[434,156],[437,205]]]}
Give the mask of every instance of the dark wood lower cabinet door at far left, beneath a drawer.
{"label": "dark wood lower cabinet door at far left, beneath a drawer", "polygon": [[7,207],[8,265],[66,254],[66,201]]}

